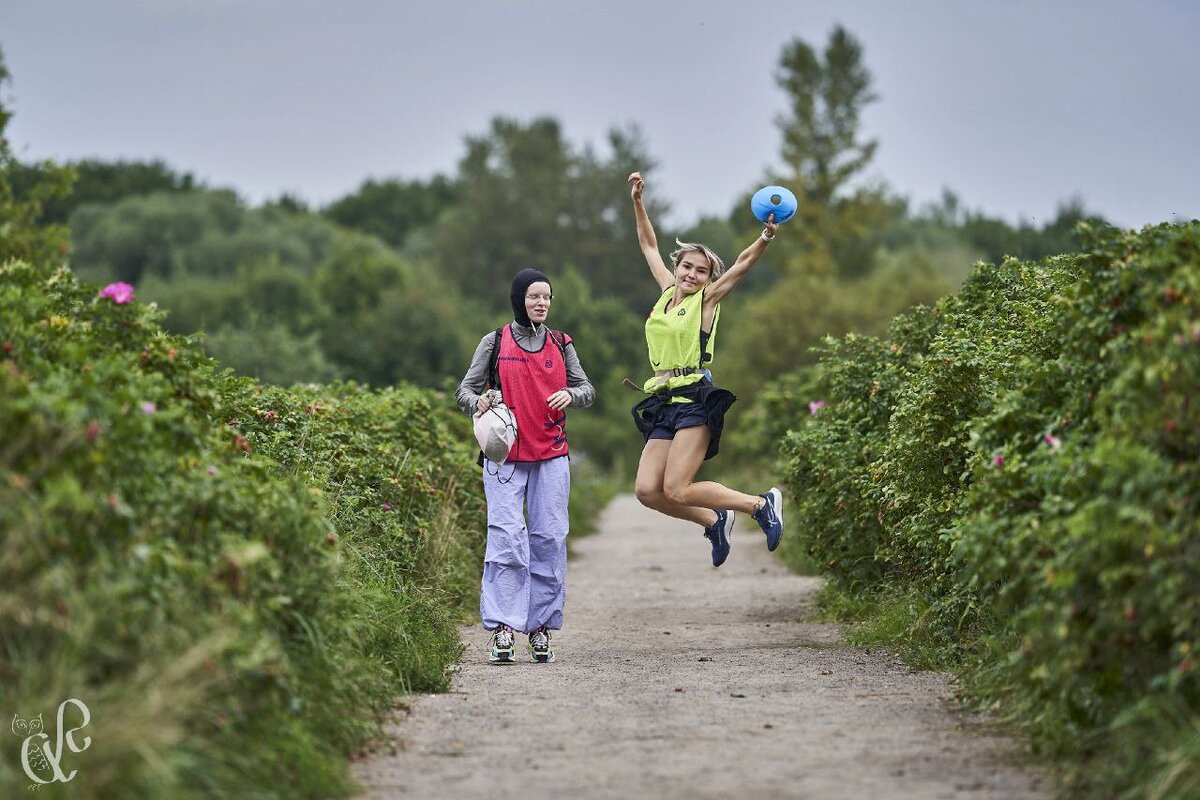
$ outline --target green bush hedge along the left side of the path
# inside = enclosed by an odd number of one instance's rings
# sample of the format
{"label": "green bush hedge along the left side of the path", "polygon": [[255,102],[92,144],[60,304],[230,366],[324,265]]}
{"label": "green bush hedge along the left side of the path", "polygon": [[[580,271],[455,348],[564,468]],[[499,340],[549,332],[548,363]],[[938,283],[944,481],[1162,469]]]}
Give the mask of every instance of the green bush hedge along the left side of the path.
{"label": "green bush hedge along the left side of the path", "polygon": [[89,705],[104,758],[71,796],[346,794],[347,756],[460,654],[467,425],[428,391],[217,372],[161,318],[0,266],[0,705]]}

